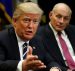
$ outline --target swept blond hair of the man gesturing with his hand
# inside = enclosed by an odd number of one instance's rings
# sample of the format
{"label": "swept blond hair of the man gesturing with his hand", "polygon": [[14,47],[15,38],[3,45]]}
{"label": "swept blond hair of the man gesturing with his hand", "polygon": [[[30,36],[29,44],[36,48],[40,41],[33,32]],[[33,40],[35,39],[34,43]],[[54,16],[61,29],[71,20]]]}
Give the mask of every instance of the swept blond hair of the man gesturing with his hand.
{"label": "swept blond hair of the man gesturing with his hand", "polygon": [[18,18],[24,13],[34,13],[34,14],[40,14],[40,16],[42,16],[43,10],[36,3],[24,2],[24,3],[17,5],[13,13],[13,18]]}

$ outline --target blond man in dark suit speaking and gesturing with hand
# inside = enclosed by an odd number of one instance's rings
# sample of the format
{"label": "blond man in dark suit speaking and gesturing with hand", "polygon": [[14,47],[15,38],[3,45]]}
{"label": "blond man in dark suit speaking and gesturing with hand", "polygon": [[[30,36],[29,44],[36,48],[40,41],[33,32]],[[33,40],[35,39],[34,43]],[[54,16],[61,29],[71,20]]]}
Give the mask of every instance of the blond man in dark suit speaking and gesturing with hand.
{"label": "blond man in dark suit speaking and gesturing with hand", "polygon": [[12,17],[13,27],[0,32],[0,71],[49,71],[59,66],[35,36],[42,14],[32,2],[17,6]]}

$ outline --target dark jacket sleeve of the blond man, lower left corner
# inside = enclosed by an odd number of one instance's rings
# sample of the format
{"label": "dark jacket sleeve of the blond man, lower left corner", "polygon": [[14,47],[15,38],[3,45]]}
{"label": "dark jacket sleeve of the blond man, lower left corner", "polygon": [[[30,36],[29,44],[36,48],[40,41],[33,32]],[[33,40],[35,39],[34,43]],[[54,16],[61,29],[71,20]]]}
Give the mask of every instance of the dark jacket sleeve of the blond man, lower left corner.
{"label": "dark jacket sleeve of the blond man, lower left corner", "polygon": [[0,44],[0,71],[16,71],[19,61],[7,59],[5,50]]}

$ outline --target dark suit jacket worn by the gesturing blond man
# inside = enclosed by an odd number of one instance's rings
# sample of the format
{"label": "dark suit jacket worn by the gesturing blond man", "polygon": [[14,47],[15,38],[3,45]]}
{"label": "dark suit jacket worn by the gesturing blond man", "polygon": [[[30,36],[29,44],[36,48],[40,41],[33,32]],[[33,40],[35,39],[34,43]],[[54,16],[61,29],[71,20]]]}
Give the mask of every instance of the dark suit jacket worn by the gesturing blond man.
{"label": "dark suit jacket worn by the gesturing blond man", "polygon": [[[30,40],[29,44],[32,47],[35,47],[35,49],[33,49],[33,54],[38,55],[39,59],[42,60],[47,65],[47,67],[57,65],[45,52],[43,45],[38,37]],[[16,71],[19,61],[20,53],[18,42],[14,29],[11,27],[0,32],[0,71]],[[46,70],[44,69],[43,71]]]}

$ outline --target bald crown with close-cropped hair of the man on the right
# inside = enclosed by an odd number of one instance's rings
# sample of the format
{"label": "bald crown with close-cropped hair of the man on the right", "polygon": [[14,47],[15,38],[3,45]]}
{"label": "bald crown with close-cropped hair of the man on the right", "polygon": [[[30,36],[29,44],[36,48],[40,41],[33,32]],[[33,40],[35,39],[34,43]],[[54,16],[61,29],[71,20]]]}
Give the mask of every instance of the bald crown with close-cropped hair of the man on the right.
{"label": "bald crown with close-cropped hair of the man on the right", "polygon": [[65,8],[66,11],[71,15],[72,14],[72,10],[71,8],[66,4],[66,3],[57,3],[55,4],[55,6],[53,7],[52,11],[56,11],[57,9],[60,8]]}

